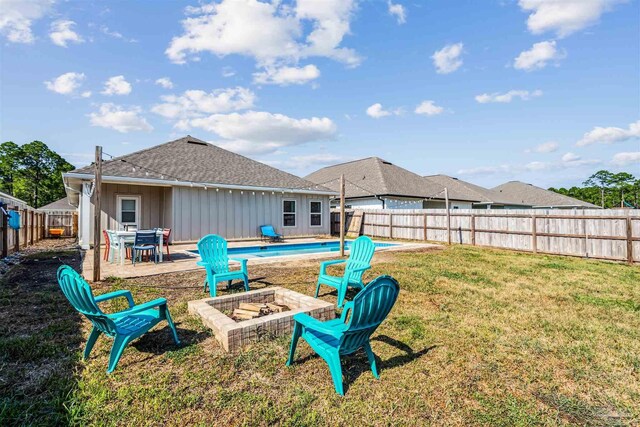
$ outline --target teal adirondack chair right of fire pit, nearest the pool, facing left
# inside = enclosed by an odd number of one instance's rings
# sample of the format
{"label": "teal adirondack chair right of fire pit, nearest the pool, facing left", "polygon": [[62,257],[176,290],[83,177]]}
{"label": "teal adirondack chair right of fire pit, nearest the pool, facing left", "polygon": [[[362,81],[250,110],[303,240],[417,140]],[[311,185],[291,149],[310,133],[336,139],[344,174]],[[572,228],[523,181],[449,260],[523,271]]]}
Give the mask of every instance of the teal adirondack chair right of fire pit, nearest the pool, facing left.
{"label": "teal adirondack chair right of fire pit, nearest the pool, facing left", "polygon": [[[358,289],[364,287],[362,274],[371,268],[371,258],[373,258],[375,249],[376,245],[373,243],[373,240],[367,236],[360,236],[351,243],[349,259],[324,261],[320,264],[320,275],[318,276],[315,297],[318,298],[320,285],[331,286],[338,290],[338,307],[342,307],[349,286]],[[342,276],[330,276],[327,274],[328,266],[341,263],[346,263]]]}

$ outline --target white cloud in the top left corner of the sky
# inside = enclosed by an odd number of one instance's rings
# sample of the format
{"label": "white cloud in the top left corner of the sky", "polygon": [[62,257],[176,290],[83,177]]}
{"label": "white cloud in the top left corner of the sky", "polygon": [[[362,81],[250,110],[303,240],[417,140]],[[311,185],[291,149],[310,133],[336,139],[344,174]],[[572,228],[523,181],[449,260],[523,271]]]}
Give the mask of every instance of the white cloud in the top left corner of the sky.
{"label": "white cloud in the top left corner of the sky", "polygon": [[0,34],[12,43],[33,43],[34,21],[46,15],[55,0],[0,0]]}

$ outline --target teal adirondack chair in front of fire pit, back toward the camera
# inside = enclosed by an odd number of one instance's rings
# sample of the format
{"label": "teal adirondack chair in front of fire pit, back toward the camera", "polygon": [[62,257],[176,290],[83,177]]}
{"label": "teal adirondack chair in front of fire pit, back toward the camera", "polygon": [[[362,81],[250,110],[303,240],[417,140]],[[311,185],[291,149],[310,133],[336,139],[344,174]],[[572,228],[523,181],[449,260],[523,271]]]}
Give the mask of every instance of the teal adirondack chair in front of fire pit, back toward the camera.
{"label": "teal adirondack chair in front of fire pit, back toward the camera", "polygon": [[345,304],[339,319],[321,322],[305,313],[296,314],[287,366],[293,362],[298,339],[302,337],[329,365],[338,394],[344,395],[340,356],[360,348],[367,353],[373,376],[380,378],[369,338],[391,311],[399,292],[400,286],[393,277],[380,276]]}

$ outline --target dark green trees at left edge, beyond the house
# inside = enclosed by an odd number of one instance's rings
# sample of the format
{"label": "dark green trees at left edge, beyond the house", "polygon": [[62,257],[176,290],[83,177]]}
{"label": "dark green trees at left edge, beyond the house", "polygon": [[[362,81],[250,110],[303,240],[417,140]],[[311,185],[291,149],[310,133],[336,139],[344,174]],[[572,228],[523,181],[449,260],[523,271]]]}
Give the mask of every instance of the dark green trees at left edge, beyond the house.
{"label": "dark green trees at left edge, beyond the house", "polygon": [[75,167],[42,141],[0,144],[0,191],[39,208],[65,196],[62,173]]}

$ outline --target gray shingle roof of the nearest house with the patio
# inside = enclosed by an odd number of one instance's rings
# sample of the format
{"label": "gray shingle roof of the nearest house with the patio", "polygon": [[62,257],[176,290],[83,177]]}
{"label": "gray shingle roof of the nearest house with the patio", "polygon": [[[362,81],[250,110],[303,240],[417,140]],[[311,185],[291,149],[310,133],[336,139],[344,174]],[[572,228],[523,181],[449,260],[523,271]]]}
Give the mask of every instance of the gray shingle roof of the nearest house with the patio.
{"label": "gray shingle roof of the nearest house with the patio", "polygon": [[[93,166],[70,173],[93,175]],[[330,191],[190,135],[102,164],[103,176]]]}

